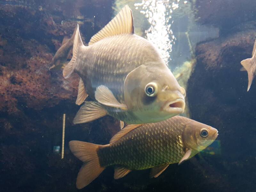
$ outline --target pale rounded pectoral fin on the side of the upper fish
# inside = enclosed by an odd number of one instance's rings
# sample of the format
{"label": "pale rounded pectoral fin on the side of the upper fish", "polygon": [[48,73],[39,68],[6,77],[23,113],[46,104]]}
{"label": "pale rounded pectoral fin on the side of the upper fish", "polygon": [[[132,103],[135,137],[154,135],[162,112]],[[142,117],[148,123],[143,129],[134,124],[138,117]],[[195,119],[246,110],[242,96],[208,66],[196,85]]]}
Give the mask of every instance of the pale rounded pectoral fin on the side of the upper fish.
{"label": "pale rounded pectoral fin on the side of the upper fish", "polygon": [[113,93],[105,85],[100,85],[97,87],[95,91],[95,99],[103,105],[127,110],[127,106],[125,104],[119,103]]}

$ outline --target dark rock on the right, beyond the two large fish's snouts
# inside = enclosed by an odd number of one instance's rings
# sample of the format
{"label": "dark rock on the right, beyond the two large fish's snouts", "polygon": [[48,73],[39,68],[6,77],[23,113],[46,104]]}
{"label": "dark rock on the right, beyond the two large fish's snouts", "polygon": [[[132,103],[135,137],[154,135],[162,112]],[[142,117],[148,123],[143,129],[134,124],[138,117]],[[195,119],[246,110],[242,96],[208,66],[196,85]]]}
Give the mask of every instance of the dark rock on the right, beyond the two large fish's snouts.
{"label": "dark rock on the right, beyond the two large fish's snouts", "polygon": [[[197,44],[196,66],[188,80],[191,118],[219,130],[221,151],[225,153],[219,157],[214,171],[225,183],[222,186],[227,185],[230,191],[250,191],[247,186],[254,185],[246,178],[256,171],[248,163],[255,162],[248,146],[256,144],[256,85],[252,82],[247,92],[248,77],[240,71],[240,62],[252,56],[255,37],[254,21],[230,29],[228,36]],[[216,164],[214,158],[207,162]],[[236,185],[237,182],[243,186]]]}

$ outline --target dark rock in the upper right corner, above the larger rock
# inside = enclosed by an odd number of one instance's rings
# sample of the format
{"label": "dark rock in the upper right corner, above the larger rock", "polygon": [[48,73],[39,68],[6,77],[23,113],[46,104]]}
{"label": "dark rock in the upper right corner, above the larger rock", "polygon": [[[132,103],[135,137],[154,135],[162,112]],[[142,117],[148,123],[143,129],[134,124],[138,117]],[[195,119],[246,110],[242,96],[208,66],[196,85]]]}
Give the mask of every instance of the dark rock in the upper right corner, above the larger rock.
{"label": "dark rock in the upper right corner, above the larger rock", "polygon": [[197,21],[223,29],[252,21],[256,14],[255,0],[195,0],[193,1]]}

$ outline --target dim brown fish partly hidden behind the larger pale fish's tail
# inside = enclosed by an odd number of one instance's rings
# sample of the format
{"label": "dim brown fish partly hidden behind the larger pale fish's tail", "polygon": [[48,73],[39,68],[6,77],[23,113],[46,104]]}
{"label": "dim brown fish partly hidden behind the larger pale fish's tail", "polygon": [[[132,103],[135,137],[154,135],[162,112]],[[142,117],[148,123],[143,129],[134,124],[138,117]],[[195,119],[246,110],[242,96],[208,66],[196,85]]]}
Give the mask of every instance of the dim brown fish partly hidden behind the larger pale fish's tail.
{"label": "dim brown fish partly hidden behind the larger pale fish's tail", "polygon": [[61,47],[58,49],[58,51],[55,53],[54,57],[51,60],[51,67],[49,68],[49,70],[56,67],[61,68],[65,63],[67,63],[68,54],[73,48],[75,35],[76,28],[70,39],[68,39],[67,37],[63,38]]}

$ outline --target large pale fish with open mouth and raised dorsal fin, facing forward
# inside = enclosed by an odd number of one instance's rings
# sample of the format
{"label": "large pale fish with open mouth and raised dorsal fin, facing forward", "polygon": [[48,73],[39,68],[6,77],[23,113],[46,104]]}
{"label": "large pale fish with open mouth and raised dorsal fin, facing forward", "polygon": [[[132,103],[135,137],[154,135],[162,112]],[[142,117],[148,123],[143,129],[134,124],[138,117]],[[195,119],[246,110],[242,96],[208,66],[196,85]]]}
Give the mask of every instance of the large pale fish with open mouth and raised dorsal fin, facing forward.
{"label": "large pale fish with open mouth and raised dorsal fin, facing forward", "polygon": [[63,70],[81,78],[76,104],[89,95],[74,123],[111,115],[129,124],[153,123],[184,111],[180,87],[157,49],[134,34],[132,10],[126,5],[84,46],[77,27],[72,60]]}

